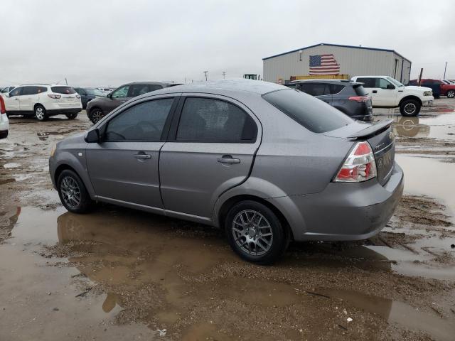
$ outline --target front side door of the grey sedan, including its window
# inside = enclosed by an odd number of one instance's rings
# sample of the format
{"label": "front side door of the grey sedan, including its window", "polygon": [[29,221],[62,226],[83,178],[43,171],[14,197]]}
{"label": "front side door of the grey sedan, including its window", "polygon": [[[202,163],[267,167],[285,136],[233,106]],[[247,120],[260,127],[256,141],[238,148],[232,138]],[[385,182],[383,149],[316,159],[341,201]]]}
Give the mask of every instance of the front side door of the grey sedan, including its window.
{"label": "front side door of the grey sedan, including its window", "polygon": [[129,105],[100,127],[100,143],[87,144],[88,173],[101,200],[162,212],[159,151],[175,98]]}

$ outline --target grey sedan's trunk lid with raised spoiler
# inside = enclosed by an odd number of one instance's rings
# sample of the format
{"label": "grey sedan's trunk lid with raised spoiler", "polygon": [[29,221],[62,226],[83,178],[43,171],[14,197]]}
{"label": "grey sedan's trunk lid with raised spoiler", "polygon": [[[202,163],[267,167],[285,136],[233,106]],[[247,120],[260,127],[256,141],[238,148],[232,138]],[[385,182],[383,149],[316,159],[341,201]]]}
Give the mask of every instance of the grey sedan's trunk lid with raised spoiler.
{"label": "grey sedan's trunk lid with raised spoiler", "polygon": [[395,135],[391,119],[376,124],[354,122],[324,134],[350,141],[368,141],[375,154],[378,181],[381,185],[387,183],[395,166]]}

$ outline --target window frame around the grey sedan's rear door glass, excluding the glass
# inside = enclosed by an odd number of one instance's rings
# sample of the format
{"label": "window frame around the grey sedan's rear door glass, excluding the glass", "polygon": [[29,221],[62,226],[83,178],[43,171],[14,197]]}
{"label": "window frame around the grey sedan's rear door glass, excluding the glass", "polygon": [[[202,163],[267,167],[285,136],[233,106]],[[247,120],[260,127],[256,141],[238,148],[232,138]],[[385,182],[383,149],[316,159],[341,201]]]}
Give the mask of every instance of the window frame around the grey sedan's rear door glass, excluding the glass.
{"label": "window frame around the grey sedan's rear door glass, excluding the glass", "polygon": [[[194,140],[177,140],[177,131],[178,126],[180,124],[181,114],[183,112],[183,105],[187,98],[203,98],[203,99],[214,99],[217,101],[226,102],[228,104],[235,105],[235,107],[239,108],[242,112],[247,115],[247,119],[251,119],[252,122],[255,124],[256,131],[255,131],[255,138],[251,140],[245,141],[232,141],[232,140],[218,140],[218,141],[194,141]],[[173,120],[171,122],[171,128],[168,131],[168,136],[166,141],[167,142],[177,142],[182,144],[255,144],[257,142],[257,136],[259,135],[259,127],[257,125],[256,120],[249,114],[245,109],[240,107],[239,104],[226,99],[225,97],[221,97],[217,94],[203,94],[203,93],[195,93],[195,94],[183,94],[180,99],[178,100],[178,106],[176,108],[176,112],[173,115]]]}

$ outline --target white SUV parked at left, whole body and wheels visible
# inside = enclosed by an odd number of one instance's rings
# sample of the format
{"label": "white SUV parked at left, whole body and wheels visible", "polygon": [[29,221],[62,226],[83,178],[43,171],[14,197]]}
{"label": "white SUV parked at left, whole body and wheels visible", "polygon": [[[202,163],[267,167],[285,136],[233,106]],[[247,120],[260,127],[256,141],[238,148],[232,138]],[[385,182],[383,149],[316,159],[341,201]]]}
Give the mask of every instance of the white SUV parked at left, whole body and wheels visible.
{"label": "white SUV parked at left, whole body and wheels visible", "polygon": [[38,121],[64,114],[75,119],[82,110],[80,95],[68,85],[28,84],[4,95],[6,114],[33,115]]}

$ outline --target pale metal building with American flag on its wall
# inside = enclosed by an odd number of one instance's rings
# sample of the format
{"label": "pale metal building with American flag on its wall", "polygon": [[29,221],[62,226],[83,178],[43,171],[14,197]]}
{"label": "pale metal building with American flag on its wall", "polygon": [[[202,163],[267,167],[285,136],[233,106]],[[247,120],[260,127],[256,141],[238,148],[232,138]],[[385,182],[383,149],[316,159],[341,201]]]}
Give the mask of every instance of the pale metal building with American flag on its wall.
{"label": "pale metal building with American flag on its wall", "polygon": [[411,61],[395,50],[363,46],[321,43],[262,61],[264,80],[282,84],[309,75],[385,75],[407,84],[411,74]]}

